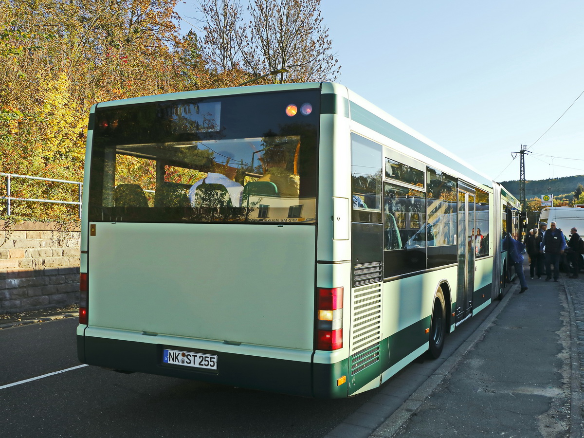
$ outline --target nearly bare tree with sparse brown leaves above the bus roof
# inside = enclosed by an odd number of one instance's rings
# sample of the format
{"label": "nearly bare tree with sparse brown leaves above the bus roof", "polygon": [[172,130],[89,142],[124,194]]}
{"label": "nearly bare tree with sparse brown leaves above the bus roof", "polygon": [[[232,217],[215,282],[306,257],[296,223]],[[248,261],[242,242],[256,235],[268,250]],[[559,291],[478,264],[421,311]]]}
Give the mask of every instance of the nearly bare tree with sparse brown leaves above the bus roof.
{"label": "nearly bare tree with sparse brown leaves above the bus roof", "polygon": [[[335,80],[340,71],[323,24],[320,0],[253,0],[244,23],[239,0],[199,2],[203,52],[217,72],[246,71],[248,79],[287,69],[279,82]],[[267,78],[264,82],[273,81]],[[262,83],[262,82],[256,82]]]}

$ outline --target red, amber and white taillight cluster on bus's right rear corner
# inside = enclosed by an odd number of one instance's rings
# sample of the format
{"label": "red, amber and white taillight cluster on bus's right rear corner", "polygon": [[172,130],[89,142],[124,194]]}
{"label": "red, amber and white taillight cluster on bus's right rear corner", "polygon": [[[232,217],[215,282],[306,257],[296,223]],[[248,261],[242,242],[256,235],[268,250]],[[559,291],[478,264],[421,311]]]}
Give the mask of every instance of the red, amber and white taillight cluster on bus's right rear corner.
{"label": "red, amber and white taillight cluster on bus's right rear corner", "polygon": [[318,350],[343,347],[343,288],[318,288]]}

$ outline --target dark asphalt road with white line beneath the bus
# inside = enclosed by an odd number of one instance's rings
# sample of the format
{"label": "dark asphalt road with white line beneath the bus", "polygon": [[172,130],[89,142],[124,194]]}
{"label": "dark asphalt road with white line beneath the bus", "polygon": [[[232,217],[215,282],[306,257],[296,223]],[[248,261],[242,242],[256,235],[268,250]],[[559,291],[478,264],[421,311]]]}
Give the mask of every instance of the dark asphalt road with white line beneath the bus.
{"label": "dark asphalt road with white line beneath the bus", "polygon": [[[451,333],[443,357],[415,361],[380,388],[340,400],[78,367],[77,318],[2,329],[0,433],[2,438],[366,437],[444,363],[495,306]],[[62,370],[66,371],[51,374]],[[46,377],[26,381],[40,376]]]}

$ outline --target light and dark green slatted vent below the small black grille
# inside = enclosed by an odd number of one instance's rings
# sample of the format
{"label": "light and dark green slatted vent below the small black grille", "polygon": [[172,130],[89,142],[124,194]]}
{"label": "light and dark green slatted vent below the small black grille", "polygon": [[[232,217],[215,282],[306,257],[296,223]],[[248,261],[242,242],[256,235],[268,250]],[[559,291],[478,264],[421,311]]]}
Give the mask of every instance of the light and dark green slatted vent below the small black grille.
{"label": "light and dark green slatted vent below the small black grille", "polygon": [[381,342],[381,284],[353,291],[351,375],[379,360]]}

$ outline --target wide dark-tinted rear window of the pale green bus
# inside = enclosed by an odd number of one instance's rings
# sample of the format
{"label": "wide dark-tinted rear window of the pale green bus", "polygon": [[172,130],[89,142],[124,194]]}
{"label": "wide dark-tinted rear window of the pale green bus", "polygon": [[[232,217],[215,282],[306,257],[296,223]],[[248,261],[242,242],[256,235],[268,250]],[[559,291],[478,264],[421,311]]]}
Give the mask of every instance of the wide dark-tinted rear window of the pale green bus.
{"label": "wide dark-tinted rear window of the pale green bus", "polygon": [[314,223],[316,91],[96,110],[89,220]]}

